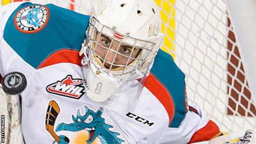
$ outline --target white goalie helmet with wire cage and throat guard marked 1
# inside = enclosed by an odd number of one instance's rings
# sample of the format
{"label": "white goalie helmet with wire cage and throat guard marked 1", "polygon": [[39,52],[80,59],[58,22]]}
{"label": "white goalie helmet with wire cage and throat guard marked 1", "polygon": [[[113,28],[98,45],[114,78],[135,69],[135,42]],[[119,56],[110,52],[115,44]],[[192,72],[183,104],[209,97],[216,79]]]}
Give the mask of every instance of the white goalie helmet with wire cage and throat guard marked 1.
{"label": "white goalie helmet with wire cage and throat guard marked 1", "polygon": [[103,102],[124,82],[144,78],[162,43],[160,25],[153,0],[103,0],[94,7],[82,45],[87,96]]}

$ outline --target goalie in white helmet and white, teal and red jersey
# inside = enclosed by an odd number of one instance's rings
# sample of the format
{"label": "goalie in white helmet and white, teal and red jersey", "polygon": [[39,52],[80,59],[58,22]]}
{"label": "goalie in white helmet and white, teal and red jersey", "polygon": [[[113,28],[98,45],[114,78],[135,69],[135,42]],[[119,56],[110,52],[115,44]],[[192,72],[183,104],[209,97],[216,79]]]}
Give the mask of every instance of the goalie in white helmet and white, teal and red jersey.
{"label": "goalie in white helmet and white, teal and red jersey", "polygon": [[1,7],[0,73],[27,80],[19,94],[25,143],[187,144],[221,136],[203,110],[187,105],[185,75],[159,49],[159,15],[153,0],[103,0],[91,16],[52,4]]}

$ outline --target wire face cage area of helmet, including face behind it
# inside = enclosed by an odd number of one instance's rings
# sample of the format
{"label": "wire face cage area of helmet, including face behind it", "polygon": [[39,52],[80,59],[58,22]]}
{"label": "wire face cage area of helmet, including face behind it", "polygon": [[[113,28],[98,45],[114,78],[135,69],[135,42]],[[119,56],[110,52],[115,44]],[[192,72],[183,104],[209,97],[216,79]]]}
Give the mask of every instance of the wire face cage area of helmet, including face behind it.
{"label": "wire face cage area of helmet, including face behind it", "polygon": [[121,34],[116,27],[107,27],[95,17],[91,17],[87,30],[86,53],[98,71],[114,76],[144,73],[150,59],[159,49],[156,43],[130,37],[130,32]]}

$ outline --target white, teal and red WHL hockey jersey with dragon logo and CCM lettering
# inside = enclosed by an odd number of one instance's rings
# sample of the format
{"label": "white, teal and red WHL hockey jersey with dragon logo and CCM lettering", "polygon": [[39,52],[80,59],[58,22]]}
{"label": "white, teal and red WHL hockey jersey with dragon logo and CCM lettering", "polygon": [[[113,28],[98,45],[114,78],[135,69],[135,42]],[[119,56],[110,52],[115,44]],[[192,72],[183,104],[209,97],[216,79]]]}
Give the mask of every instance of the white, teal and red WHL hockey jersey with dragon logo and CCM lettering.
{"label": "white, teal and red WHL hockey jersey with dragon logo and CCM lettering", "polygon": [[26,144],[186,144],[220,134],[200,108],[187,105],[185,75],[162,50],[131,108],[124,107],[135,91],[126,86],[107,105],[91,101],[78,54],[89,18],[51,4],[0,8],[0,73],[27,78]]}

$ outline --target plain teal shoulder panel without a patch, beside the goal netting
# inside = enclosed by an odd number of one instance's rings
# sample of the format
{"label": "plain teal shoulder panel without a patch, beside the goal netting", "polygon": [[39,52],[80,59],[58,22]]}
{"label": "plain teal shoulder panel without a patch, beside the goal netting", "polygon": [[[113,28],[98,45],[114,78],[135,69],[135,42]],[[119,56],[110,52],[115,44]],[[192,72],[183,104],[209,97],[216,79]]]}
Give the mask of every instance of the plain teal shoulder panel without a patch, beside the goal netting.
{"label": "plain teal shoulder panel without a patch, beside the goal netting", "polygon": [[166,87],[174,101],[174,118],[169,127],[178,128],[187,113],[185,100],[185,74],[171,55],[162,50],[155,57],[151,73]]}

